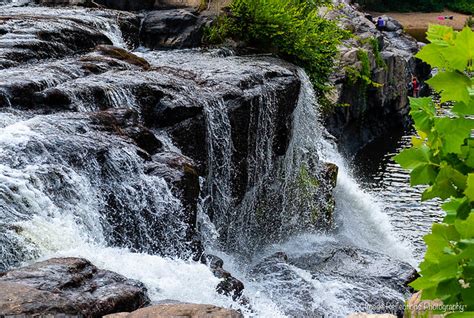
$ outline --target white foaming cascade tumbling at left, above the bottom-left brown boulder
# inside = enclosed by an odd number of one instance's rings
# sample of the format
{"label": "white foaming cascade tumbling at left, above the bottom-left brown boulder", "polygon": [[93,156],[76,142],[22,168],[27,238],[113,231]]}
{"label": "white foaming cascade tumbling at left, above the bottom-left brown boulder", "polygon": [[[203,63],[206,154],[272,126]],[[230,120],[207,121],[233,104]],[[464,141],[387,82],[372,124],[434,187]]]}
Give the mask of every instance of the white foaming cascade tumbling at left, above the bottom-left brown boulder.
{"label": "white foaming cascade tumbling at left, above the bottom-left brown boulder", "polygon": [[135,146],[97,133],[81,115],[1,117],[0,236],[13,242],[1,251],[4,267],[78,242],[187,249],[180,201],[164,179],[144,173]]}

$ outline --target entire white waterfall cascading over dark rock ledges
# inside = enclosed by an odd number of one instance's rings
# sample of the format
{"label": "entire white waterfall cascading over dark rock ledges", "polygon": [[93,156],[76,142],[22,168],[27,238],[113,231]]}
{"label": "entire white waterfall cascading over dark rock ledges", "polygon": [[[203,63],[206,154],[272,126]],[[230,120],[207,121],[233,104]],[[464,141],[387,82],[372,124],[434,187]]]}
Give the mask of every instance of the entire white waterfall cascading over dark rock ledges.
{"label": "entire white waterfall cascading over dark rock ledges", "polygon": [[[60,16],[61,25],[125,47],[110,12],[5,8],[1,15]],[[38,27],[35,23],[32,28]],[[20,36],[10,34],[7,40],[20,41]],[[104,64],[110,70],[100,64],[90,72],[89,62],[105,63],[95,53],[76,59],[58,52],[54,61],[37,62],[21,55],[26,64],[5,64],[0,70],[0,269],[52,256],[85,257],[142,281],[154,302],[212,303],[238,308],[249,317],[339,317],[370,311],[367,299],[401,300],[400,289],[372,276],[397,270],[392,258],[382,254],[411,260],[410,252],[392,234],[382,206],[351,176],[320,124],[306,74],[276,68],[274,60],[219,52],[141,48],[134,53],[150,62],[147,71],[115,61],[113,67]],[[275,69],[265,73],[270,67]],[[291,86],[295,95],[299,89],[296,105],[279,100],[281,87],[272,82],[273,71],[284,83],[296,78],[301,84]],[[234,80],[237,76],[243,80]],[[252,81],[259,85],[247,87]],[[22,85],[28,90],[21,91]],[[244,105],[241,109],[236,100]],[[182,156],[173,141],[174,127],[153,126],[163,145],[146,153],[118,119],[105,125],[104,115],[95,113],[127,108],[139,112],[138,127],[162,119],[163,113],[151,107],[157,101],[184,109],[183,122],[203,117],[207,149],[198,210],[202,228],[208,229],[201,234],[209,237],[202,241],[244,282],[249,305],[216,293],[220,280],[207,266],[187,260],[189,224],[183,220],[188,211],[168,175],[148,173],[156,163],[153,157]],[[291,120],[278,117],[280,108],[288,110]],[[196,134],[197,122],[192,126]],[[244,143],[242,136],[248,137]],[[246,156],[238,157],[236,147],[245,148],[239,151]],[[331,187],[325,184],[331,181],[324,180],[326,162],[339,166],[334,213],[327,193]],[[238,175],[236,164],[246,174]],[[317,257],[328,253],[342,274]],[[354,255],[370,257],[369,269],[359,267]],[[366,276],[354,279],[348,274],[353,272]]]}

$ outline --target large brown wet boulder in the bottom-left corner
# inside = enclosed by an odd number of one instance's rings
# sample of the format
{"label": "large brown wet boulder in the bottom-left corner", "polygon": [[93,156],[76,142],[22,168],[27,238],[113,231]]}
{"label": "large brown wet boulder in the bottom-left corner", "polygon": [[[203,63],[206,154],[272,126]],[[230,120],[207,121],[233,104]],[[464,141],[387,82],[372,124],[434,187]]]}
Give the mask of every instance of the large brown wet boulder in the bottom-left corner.
{"label": "large brown wet boulder in the bottom-left corner", "polygon": [[148,304],[146,288],[85,259],[53,258],[0,277],[0,315],[101,317]]}

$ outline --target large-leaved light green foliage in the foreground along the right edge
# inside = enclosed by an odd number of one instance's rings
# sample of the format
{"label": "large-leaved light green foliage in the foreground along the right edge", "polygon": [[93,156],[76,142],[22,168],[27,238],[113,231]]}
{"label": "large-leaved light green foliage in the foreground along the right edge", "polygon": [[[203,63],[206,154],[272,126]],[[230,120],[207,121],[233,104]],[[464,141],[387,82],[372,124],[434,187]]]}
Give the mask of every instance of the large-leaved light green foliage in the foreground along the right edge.
{"label": "large-leaved light green foliage in the foreground along the right edge", "polygon": [[411,170],[413,186],[428,186],[422,200],[445,201],[446,216],[425,236],[421,277],[411,286],[423,299],[461,304],[469,312],[463,317],[474,317],[474,33],[435,25],[427,38],[417,57],[439,69],[427,83],[452,105],[451,114],[439,116],[432,98],[412,98],[418,138],[395,159]]}

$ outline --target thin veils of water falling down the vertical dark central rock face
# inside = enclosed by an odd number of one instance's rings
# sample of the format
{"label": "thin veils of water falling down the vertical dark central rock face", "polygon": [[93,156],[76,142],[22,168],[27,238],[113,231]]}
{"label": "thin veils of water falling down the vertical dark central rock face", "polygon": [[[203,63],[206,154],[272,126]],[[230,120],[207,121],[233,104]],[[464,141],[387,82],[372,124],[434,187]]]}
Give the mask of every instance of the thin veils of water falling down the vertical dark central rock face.
{"label": "thin veils of water falling down the vertical dark central rock face", "polygon": [[[275,149],[278,132],[277,88],[264,83],[250,102],[248,145],[245,160],[245,194],[238,198],[232,171],[232,126],[223,101],[207,105],[209,211],[227,248],[251,254],[259,245],[331,224],[331,189],[320,175],[325,169],[318,158],[321,136],[318,105],[303,70],[299,102],[292,112],[292,129],[285,152]],[[285,105],[284,107],[290,107]],[[286,119],[285,119],[286,120]],[[242,150],[240,150],[242,151]],[[328,212],[329,211],[329,212]]]}

